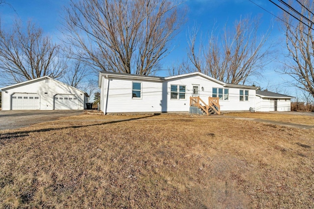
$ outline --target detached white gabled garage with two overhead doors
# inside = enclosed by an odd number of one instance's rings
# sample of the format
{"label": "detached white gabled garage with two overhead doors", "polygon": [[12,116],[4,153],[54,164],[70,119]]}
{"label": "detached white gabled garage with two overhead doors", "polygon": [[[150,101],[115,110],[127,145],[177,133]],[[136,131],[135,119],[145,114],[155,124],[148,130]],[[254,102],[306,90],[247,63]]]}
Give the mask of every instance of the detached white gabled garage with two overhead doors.
{"label": "detached white gabled garage with two overhead doors", "polygon": [[2,110],[83,110],[87,93],[49,76],[1,89]]}

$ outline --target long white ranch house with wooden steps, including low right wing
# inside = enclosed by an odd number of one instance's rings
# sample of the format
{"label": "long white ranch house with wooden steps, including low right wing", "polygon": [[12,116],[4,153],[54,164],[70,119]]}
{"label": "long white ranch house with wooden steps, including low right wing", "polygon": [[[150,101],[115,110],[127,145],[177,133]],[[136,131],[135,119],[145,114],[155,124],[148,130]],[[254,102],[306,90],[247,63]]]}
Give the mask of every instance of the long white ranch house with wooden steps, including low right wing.
{"label": "long white ranch house with wooden steps, including low right wing", "polygon": [[250,108],[265,112],[290,111],[293,98],[283,94],[267,97],[257,87],[227,84],[200,72],[157,77],[101,71],[98,84],[100,110],[104,114],[200,113],[202,109],[209,114],[215,109],[220,112]]}

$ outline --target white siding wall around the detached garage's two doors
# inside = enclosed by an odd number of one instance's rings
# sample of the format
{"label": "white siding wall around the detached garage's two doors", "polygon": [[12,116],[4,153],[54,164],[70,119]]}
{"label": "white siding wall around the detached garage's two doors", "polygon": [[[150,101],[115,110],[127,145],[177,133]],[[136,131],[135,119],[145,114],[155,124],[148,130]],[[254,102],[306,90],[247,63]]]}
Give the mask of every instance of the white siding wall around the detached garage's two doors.
{"label": "white siding wall around the detached garage's two doors", "polygon": [[[47,80],[49,80],[49,82],[47,82]],[[42,79],[2,91],[2,110],[11,110],[11,95],[13,93],[37,93],[40,97],[40,110],[54,109],[53,96],[55,94],[76,95],[76,97],[78,98],[78,110],[83,110],[86,102],[86,98],[83,92],[70,86],[63,85],[52,79]]]}

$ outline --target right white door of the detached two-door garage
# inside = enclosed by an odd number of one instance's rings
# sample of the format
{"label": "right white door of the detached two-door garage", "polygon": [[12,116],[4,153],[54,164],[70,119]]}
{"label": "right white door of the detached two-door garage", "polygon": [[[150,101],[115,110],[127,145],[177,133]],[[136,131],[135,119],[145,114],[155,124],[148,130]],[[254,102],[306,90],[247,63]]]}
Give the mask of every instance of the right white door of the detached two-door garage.
{"label": "right white door of the detached two-door garage", "polygon": [[56,94],[54,96],[55,110],[78,110],[78,98],[71,94]]}

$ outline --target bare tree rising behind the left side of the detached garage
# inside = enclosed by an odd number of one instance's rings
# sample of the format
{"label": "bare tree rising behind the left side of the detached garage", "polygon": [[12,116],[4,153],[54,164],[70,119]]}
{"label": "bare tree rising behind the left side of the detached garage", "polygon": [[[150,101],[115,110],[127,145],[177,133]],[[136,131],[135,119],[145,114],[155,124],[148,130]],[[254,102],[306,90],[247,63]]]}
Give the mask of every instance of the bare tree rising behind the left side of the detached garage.
{"label": "bare tree rising behind the left side of the detached garage", "polygon": [[67,68],[59,58],[60,46],[43,36],[41,28],[31,22],[26,30],[16,21],[6,32],[0,27],[0,71],[8,83],[22,82],[45,75],[60,77]]}

